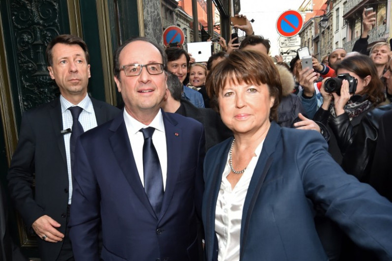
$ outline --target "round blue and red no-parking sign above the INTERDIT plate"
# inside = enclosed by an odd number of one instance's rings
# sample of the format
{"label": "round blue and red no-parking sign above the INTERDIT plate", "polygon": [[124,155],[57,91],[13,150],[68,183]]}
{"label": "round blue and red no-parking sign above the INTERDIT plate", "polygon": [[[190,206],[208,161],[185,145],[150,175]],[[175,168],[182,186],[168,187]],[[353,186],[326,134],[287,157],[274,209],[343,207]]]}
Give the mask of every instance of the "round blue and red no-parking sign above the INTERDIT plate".
{"label": "round blue and red no-parking sign above the INTERDIT plate", "polygon": [[277,18],[276,31],[283,37],[293,37],[301,31],[302,25],[302,15],[298,11],[288,10]]}

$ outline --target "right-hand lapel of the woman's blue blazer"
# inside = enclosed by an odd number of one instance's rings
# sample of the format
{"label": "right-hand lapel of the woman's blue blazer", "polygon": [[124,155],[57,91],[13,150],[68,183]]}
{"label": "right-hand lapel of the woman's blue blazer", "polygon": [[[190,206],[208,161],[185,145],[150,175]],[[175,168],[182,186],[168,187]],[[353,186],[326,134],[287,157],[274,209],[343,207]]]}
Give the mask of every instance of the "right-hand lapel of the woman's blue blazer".
{"label": "right-hand lapel of the woman's blue blazer", "polygon": [[243,256],[243,246],[246,244],[247,233],[249,230],[249,220],[263,186],[265,177],[267,176],[268,170],[272,164],[272,154],[275,151],[276,143],[278,141],[277,138],[280,133],[281,130],[279,126],[272,122],[265,138],[263,149],[261,150],[255,171],[253,172],[253,176],[250,180],[248,191],[246,192],[241,220],[240,259]]}

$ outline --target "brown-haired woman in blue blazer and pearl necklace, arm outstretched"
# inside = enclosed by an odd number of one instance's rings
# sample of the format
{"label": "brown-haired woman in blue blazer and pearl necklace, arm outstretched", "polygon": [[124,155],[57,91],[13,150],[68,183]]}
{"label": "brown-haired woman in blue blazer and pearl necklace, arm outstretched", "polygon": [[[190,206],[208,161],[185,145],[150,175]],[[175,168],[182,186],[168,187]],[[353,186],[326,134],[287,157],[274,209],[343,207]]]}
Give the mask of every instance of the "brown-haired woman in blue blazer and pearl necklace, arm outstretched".
{"label": "brown-haired woman in blue blazer and pearl necklace, arm outstretched", "polygon": [[392,204],[347,175],[320,133],[274,122],[282,86],[268,56],[233,51],[207,90],[234,133],[204,162],[208,261],[327,261],[316,209],[356,244],[392,260]]}

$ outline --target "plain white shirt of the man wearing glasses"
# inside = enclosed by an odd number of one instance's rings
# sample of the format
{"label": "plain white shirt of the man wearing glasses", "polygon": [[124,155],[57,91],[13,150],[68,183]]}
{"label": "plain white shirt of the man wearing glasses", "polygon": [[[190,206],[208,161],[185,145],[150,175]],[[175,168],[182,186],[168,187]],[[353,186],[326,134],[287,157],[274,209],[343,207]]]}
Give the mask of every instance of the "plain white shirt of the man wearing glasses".
{"label": "plain white shirt of the man wearing glasses", "polygon": [[163,125],[162,112],[159,110],[156,114],[154,120],[150,125],[144,125],[138,122],[131,115],[124,110],[124,121],[127,127],[129,141],[131,143],[131,149],[133,153],[133,158],[136,163],[137,172],[139,172],[140,180],[144,186],[144,172],[143,172],[143,144],[144,137],[143,133],[139,130],[142,128],[153,127],[155,131],[152,135],[152,143],[154,144],[155,150],[158,153],[158,158],[160,162],[160,167],[162,169],[162,179],[163,179],[163,191],[166,188],[166,172],[167,172],[167,150],[166,150],[166,135]]}

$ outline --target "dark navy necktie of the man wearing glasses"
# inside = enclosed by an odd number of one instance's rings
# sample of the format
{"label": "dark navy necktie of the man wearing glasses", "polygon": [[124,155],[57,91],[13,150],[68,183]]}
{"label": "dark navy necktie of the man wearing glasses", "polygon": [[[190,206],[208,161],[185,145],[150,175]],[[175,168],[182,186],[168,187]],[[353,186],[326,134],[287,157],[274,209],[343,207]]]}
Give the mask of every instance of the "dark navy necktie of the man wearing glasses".
{"label": "dark navy necktie of the man wearing glasses", "polygon": [[159,163],[158,153],[152,143],[152,134],[155,128],[148,127],[140,130],[144,136],[143,144],[143,172],[144,189],[150,200],[150,204],[158,216],[162,207],[163,179]]}

